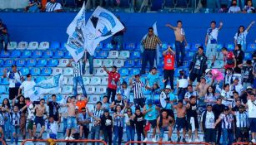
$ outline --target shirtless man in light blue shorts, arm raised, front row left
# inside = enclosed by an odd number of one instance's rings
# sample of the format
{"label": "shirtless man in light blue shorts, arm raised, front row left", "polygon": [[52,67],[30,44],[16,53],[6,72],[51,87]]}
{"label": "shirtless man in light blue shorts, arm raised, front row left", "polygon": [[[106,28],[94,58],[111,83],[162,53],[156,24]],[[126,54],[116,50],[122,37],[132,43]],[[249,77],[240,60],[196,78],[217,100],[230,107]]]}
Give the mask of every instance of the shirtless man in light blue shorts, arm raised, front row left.
{"label": "shirtless man in light blue shorts, arm raised, front row left", "polygon": [[[71,98],[71,102],[66,104],[66,107],[68,107],[68,121],[67,121],[67,137],[65,140],[73,140],[73,133],[75,132],[75,129],[77,128],[77,118],[76,118],[76,102],[75,97],[73,96]],[[71,132],[69,133],[71,129]]]}

